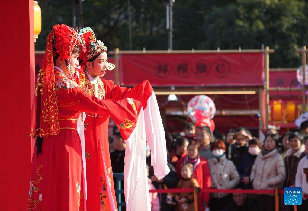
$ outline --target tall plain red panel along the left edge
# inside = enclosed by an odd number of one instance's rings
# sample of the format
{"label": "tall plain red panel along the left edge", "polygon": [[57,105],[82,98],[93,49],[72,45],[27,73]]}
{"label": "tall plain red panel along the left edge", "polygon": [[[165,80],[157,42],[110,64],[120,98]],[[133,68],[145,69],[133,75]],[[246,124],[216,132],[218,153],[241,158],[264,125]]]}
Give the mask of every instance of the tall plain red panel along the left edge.
{"label": "tall plain red panel along the left edge", "polygon": [[1,8],[5,77],[1,84],[0,195],[6,210],[27,210],[31,153],[28,133],[34,94],[33,0],[2,1]]}

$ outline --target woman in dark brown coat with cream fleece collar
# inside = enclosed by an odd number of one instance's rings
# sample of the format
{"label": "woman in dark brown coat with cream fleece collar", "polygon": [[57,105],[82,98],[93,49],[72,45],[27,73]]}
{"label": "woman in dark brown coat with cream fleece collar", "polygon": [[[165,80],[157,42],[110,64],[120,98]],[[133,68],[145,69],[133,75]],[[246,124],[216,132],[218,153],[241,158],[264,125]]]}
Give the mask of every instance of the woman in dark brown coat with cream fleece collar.
{"label": "woman in dark brown coat with cream fleece collar", "polygon": [[284,187],[295,186],[295,175],[299,161],[306,156],[304,136],[299,132],[292,132],[289,135],[290,149],[286,152],[286,181]]}

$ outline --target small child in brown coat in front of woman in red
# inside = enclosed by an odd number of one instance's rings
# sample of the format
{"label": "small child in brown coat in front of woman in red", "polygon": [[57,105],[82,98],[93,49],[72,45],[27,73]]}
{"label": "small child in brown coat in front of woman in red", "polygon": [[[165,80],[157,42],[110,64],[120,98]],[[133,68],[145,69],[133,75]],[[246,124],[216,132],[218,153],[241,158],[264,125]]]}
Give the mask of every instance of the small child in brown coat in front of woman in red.
{"label": "small child in brown coat in front of woman in red", "polygon": [[[181,176],[176,185],[176,188],[194,188],[199,187],[199,184],[196,179],[192,177],[193,175],[193,165],[190,163],[184,164],[181,166]],[[176,201],[178,202],[176,206],[176,211],[194,211],[194,198],[193,193],[177,193],[175,196]],[[197,211],[197,210],[196,210]]]}

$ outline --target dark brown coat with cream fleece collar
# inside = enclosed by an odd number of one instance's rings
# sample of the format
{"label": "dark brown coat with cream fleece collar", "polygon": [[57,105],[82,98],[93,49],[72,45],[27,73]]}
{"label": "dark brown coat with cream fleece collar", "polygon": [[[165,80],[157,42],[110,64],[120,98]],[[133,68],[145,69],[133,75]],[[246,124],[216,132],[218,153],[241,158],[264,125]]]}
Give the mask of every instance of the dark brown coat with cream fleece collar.
{"label": "dark brown coat with cream fleece collar", "polygon": [[298,163],[305,156],[305,144],[302,144],[294,154],[292,154],[291,148],[286,151],[286,157],[284,159],[286,166],[286,181],[283,188],[295,185],[295,175]]}

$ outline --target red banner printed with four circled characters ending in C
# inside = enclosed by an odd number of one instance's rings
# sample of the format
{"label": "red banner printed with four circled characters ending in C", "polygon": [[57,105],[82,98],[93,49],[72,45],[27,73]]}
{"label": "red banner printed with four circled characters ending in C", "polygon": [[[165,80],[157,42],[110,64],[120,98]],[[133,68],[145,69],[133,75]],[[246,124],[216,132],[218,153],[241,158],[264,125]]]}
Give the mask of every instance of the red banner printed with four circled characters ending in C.
{"label": "red banner printed with four circled characters ending in C", "polygon": [[121,85],[148,80],[152,86],[260,86],[262,53],[121,55]]}

